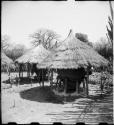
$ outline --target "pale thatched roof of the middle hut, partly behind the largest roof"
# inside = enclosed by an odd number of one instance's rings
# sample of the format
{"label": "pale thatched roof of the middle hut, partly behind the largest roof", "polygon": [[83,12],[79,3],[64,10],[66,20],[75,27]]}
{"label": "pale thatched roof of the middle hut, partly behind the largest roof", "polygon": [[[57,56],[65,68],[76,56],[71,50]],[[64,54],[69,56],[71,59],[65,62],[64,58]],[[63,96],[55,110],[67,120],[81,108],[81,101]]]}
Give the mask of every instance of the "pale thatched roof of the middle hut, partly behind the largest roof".
{"label": "pale thatched roof of the middle hut, partly behind the largest roof", "polygon": [[48,55],[49,51],[46,50],[42,44],[29,50],[23,56],[18,58],[16,61],[19,63],[41,63]]}

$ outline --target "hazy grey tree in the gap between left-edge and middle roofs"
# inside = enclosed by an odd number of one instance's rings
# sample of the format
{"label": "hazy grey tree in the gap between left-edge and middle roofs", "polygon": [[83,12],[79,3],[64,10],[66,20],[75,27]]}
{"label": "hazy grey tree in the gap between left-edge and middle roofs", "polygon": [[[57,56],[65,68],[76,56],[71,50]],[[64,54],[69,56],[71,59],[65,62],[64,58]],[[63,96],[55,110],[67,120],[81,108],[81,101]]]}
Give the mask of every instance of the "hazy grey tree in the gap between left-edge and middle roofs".
{"label": "hazy grey tree in the gap between left-edge and middle roofs", "polygon": [[17,58],[22,56],[24,52],[26,51],[26,48],[24,45],[21,44],[15,44],[14,46],[11,44],[8,49],[5,50],[5,54],[11,58],[13,61],[15,61]]}

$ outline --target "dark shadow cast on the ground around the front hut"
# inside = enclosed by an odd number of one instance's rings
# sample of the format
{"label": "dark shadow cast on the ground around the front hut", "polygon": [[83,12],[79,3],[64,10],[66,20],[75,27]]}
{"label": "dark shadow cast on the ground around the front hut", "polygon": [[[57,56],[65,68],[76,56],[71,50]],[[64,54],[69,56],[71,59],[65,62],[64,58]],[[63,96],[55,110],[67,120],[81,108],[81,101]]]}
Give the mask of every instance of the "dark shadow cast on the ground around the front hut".
{"label": "dark shadow cast on the ground around the front hut", "polygon": [[37,102],[44,102],[44,103],[58,103],[58,104],[64,104],[64,102],[73,102],[76,99],[79,98],[88,98],[91,99],[94,102],[102,102],[105,100],[105,98],[108,96],[106,95],[96,95],[96,96],[88,96],[85,97],[83,95],[78,96],[67,96],[67,97],[61,97],[59,95],[56,95],[50,86],[44,86],[44,87],[34,87],[28,90],[24,90],[20,92],[20,96],[23,99],[27,99],[30,101],[37,101]]}

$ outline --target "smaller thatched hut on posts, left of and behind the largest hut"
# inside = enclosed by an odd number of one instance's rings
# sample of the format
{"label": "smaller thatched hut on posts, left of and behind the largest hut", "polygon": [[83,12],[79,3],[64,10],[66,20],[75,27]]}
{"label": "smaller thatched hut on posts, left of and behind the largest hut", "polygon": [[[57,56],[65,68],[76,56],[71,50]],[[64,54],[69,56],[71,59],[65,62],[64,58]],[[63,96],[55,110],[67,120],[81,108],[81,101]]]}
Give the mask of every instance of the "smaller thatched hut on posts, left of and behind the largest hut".
{"label": "smaller thatched hut on posts, left of and behind the largest hut", "polygon": [[[27,51],[23,56],[18,58],[16,62],[19,64],[19,72],[21,72],[23,77],[23,67],[26,66],[27,69],[27,77],[31,76],[31,73],[34,72],[37,76],[43,79],[45,76],[45,69],[39,69],[36,67],[36,64],[40,64],[48,55],[50,51],[46,50],[42,44],[38,45],[37,47],[32,48],[31,50]],[[19,75],[20,76],[20,75]]]}

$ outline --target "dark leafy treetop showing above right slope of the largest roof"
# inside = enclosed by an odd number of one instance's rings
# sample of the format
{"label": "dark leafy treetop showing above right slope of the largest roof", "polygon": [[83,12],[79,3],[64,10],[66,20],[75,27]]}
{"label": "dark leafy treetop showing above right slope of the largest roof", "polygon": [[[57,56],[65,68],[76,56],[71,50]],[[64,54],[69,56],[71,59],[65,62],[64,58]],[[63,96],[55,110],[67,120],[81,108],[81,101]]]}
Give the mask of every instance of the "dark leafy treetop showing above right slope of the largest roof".
{"label": "dark leafy treetop showing above right slope of the largest roof", "polygon": [[76,33],[75,34],[75,37],[77,39],[79,39],[80,41],[84,42],[84,43],[87,43],[89,46],[93,46],[92,43],[88,40],[88,36],[87,34],[83,34],[83,33]]}

